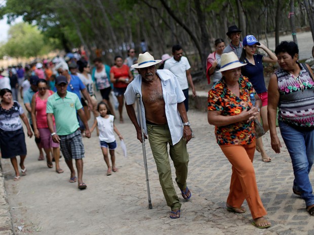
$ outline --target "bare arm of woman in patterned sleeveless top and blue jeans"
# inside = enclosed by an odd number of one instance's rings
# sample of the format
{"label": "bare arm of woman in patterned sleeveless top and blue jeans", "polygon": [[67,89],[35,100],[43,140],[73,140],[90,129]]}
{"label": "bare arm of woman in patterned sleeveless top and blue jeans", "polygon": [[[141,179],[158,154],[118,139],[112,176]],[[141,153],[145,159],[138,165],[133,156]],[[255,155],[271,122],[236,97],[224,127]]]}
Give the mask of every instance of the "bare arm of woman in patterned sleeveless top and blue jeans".
{"label": "bare arm of woman in patterned sleeveless top and blue jeans", "polygon": [[279,90],[278,81],[276,74],[270,77],[268,84],[268,105],[267,105],[267,120],[269,125],[270,133],[270,144],[271,148],[275,153],[280,153],[280,148],[282,147],[280,139],[277,135],[276,130],[276,118],[277,118],[277,107],[279,103]]}

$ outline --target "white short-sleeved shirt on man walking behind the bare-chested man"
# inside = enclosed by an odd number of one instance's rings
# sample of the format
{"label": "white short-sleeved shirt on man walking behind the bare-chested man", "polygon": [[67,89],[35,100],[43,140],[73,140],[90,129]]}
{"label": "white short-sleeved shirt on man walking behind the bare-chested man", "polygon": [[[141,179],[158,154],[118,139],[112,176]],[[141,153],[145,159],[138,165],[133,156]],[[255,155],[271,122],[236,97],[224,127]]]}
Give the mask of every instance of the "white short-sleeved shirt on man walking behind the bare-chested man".
{"label": "white short-sleeved shirt on man walking behind the bare-chested man", "polygon": [[182,90],[188,89],[186,71],[191,68],[185,56],[180,61],[176,61],[173,57],[165,61],[164,69],[170,70],[178,78]]}

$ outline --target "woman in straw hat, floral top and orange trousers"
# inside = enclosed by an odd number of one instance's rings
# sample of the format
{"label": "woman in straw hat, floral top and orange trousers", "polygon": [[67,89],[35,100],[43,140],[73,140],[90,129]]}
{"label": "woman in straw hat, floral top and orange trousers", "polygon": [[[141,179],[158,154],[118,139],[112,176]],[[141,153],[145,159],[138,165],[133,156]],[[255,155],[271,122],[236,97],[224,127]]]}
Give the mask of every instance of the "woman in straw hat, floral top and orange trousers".
{"label": "woman in straw hat, floral top and orange trousers", "polygon": [[[221,56],[222,79],[208,92],[208,122],[215,126],[219,147],[232,165],[228,211],[244,213],[246,199],[253,217],[252,224],[266,228],[270,223],[263,217],[266,210],[259,197],[253,158],[255,152],[254,119],[258,117],[261,100],[251,82],[241,76],[239,61],[233,52]],[[255,107],[250,94],[256,99]]]}

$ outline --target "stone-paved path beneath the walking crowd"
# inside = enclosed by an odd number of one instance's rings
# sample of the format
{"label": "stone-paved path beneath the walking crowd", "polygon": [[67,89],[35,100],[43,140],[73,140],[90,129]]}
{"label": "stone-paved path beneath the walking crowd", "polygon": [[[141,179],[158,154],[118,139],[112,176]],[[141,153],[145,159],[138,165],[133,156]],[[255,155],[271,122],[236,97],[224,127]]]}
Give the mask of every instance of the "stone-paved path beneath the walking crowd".
{"label": "stone-paved path beneath the walking crowd", "polygon": [[[190,110],[188,117],[195,134],[188,143],[187,182],[192,198],[188,202],[181,200],[180,219],[169,218],[170,208],[164,200],[147,141],[153,206],[148,209],[141,144],[136,139],[132,123],[125,118],[124,124],[116,123],[116,126],[125,138],[128,158],[122,156],[118,146],[116,161],[119,172],[111,176],[105,175],[96,133],[91,139],[84,138],[84,180],[88,185],[85,191],[78,191],[75,183],[67,181],[69,170],[63,159],[63,174],[48,169],[43,161],[38,162],[33,139],[27,139],[25,165],[28,174],[20,181],[13,181],[10,162],[2,160],[15,234],[314,234],[314,217],[309,216],[304,201],[292,192],[292,165],[283,142],[282,153],[274,154],[267,133],[263,142],[272,161],[264,163],[260,154],[255,154],[258,188],[268,212],[267,218],[272,223],[268,229],[258,229],[251,225],[249,210],[244,214],[234,214],[225,209],[231,165],[216,144],[214,127],[208,124],[206,112]],[[313,178],[313,173],[310,173],[310,178]],[[0,180],[1,189],[2,182]],[[182,198],[178,187],[176,190]],[[3,226],[4,219],[9,219],[10,214],[4,200],[6,192],[0,192],[0,234],[12,234],[8,227],[10,221]],[[244,206],[248,209],[246,202]],[[23,226],[21,230],[19,226]],[[3,233],[4,229],[9,231]]]}

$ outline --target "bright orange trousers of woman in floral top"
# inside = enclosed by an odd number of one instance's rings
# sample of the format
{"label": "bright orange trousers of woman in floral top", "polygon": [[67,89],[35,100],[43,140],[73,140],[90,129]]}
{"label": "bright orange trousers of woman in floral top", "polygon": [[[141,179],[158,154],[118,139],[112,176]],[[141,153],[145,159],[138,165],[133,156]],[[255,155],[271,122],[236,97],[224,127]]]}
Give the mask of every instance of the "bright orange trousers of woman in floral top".
{"label": "bright orange trousers of woman in floral top", "polygon": [[253,219],[267,214],[258,194],[253,158],[255,142],[249,145],[220,146],[232,165],[230,192],[227,204],[240,208],[247,200]]}

